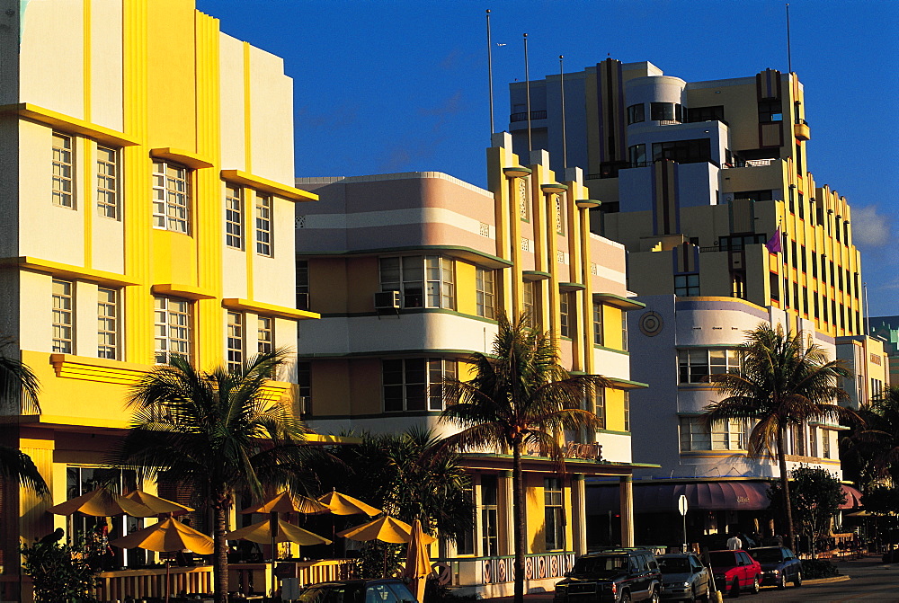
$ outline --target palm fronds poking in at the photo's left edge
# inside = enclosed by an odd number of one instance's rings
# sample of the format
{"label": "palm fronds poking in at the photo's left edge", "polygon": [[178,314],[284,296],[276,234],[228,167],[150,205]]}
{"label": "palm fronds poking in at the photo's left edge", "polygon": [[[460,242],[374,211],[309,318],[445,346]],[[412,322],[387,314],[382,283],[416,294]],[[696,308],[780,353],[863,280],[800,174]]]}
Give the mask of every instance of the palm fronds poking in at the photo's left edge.
{"label": "palm fronds poking in at the photo's left edge", "polygon": [[[23,411],[40,412],[38,393],[40,384],[31,368],[19,359],[0,354],[0,403],[9,414],[19,413],[19,404]],[[4,429],[8,426],[4,425]],[[18,448],[0,446],[0,477],[18,481],[22,487],[28,488],[41,496],[49,494],[38,467],[31,457]]]}

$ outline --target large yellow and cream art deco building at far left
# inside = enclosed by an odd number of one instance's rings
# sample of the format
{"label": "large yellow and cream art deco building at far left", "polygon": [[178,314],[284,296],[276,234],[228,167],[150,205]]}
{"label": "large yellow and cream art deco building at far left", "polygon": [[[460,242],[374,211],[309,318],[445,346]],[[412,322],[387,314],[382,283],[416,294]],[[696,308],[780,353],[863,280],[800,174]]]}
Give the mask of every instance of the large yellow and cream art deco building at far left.
{"label": "large yellow and cream art deco building at far left", "polygon": [[[294,206],[316,195],[291,186],[281,59],[191,0],[3,7],[0,334],[41,386],[40,412],[4,406],[4,444],[52,491],[3,485],[12,588],[20,536],[77,528],[46,510],[91,487],[128,424],[128,386],[154,363],[295,347],[298,320],[317,315],[294,304]],[[292,363],[280,379],[272,395],[292,394]]]}

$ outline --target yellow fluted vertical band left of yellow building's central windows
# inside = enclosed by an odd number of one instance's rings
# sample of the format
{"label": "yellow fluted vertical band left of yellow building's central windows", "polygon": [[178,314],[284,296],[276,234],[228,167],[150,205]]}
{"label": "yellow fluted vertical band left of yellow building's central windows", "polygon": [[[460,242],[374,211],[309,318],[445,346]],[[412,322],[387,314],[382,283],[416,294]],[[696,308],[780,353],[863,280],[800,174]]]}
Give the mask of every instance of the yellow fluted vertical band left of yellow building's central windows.
{"label": "yellow fluted vertical band left of yellow building's central windows", "polygon": [[152,232],[150,213],[151,162],[147,156],[147,0],[129,0],[122,6],[122,82],[125,132],[138,138],[140,145],[121,150],[123,167],[122,208],[128,217],[125,228],[125,274],[140,285],[122,292],[124,359],[153,361],[153,297],[150,294]]}

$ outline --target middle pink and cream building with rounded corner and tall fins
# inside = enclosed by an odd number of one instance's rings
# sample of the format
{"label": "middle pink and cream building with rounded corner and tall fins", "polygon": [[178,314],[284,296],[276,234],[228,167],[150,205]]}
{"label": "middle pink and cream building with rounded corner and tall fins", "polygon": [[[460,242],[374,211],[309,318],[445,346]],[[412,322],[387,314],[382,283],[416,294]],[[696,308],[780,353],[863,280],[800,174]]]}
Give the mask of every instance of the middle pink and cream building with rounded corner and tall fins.
{"label": "middle pink and cream building with rounded corner and tall fins", "polygon": [[[586,550],[585,475],[617,480],[629,501],[629,395],[642,386],[630,379],[626,315],[642,305],[625,287],[624,249],[589,232],[595,202],[581,171],[562,178],[548,161],[540,152],[522,162],[502,133],[487,151],[488,190],[444,173],[297,181],[320,196],[297,218],[298,303],[328,308],[298,343],[304,419],[316,431],[449,433],[442,379],[466,378],[470,354],[491,350],[500,313],[526,312],[553,333],[565,368],[610,378],[585,401],[605,429],[560,434],[571,457],[561,481],[539,451],[525,457],[532,587],[550,584]],[[456,584],[486,595],[512,586],[503,452],[464,457],[476,533],[441,544]],[[630,529],[624,521],[626,538]]]}

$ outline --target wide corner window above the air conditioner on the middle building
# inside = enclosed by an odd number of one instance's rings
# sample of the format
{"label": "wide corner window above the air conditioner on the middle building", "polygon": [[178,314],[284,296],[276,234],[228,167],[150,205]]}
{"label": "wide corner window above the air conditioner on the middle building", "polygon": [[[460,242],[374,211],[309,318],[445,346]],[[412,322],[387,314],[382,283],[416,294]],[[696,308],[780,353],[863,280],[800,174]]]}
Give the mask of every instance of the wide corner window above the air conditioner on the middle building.
{"label": "wide corner window above the air conditioner on the middle building", "polygon": [[381,290],[399,291],[403,307],[455,309],[453,261],[438,255],[381,258]]}

